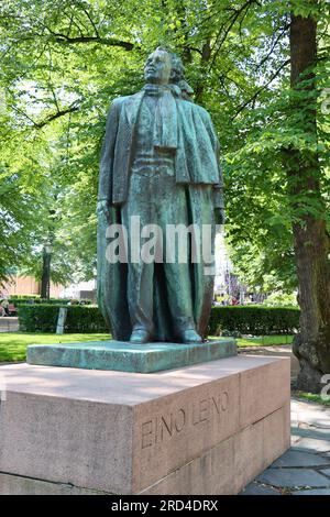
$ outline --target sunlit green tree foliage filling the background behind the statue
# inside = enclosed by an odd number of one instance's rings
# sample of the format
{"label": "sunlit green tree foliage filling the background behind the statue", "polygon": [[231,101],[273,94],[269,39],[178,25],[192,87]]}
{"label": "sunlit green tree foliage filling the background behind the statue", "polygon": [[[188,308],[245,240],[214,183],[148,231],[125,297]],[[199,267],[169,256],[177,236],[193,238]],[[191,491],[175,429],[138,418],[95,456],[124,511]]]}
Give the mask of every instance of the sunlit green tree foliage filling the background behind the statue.
{"label": "sunlit green tree foliage filling the background behind the statue", "polygon": [[[56,282],[88,279],[96,266],[98,162],[113,98],[143,85],[157,45],[177,51],[196,102],[212,114],[221,143],[227,232],[245,284],[297,286],[292,223],[318,213],[318,199],[293,204],[286,151],[318,150],[329,204],[327,2],[294,0],[7,0],[0,7],[0,278],[9,266],[41,276],[53,240]],[[308,110],[289,91],[290,10],[318,20],[318,141]],[[309,80],[309,79],[306,79]],[[300,91],[306,98],[308,95]],[[328,176],[327,176],[328,174]],[[3,187],[2,187],[3,185]],[[3,193],[3,194],[1,194]]]}

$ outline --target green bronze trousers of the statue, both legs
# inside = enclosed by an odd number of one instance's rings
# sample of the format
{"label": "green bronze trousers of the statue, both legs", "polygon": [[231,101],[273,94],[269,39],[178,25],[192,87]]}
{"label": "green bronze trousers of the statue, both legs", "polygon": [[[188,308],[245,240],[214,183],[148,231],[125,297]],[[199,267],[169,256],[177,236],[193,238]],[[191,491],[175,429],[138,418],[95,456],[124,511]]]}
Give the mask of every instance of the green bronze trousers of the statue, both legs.
{"label": "green bronze trousers of the statue, both legs", "polygon": [[[122,222],[128,229],[129,235],[129,274],[128,298],[132,324],[135,328],[146,329],[153,332],[153,283],[154,263],[146,263],[141,256],[143,244],[152,234],[141,238],[140,243],[132,241],[133,224],[139,216],[140,230],[147,224],[157,224],[163,234],[163,265],[166,279],[166,290],[170,317],[177,333],[186,329],[195,328],[193,317],[191,285],[189,274],[189,245],[187,252],[179,256],[177,239],[172,261],[166,260],[166,233],[168,224],[173,227],[188,226],[188,207],[186,191],[183,185],[175,183],[173,175],[132,174],[128,201],[122,210]],[[132,217],[135,218],[135,222]],[[170,239],[167,244],[172,243]],[[173,251],[173,250],[172,250]],[[138,253],[136,253],[138,252]],[[132,256],[134,255],[135,256]],[[182,258],[182,260],[180,260]]]}

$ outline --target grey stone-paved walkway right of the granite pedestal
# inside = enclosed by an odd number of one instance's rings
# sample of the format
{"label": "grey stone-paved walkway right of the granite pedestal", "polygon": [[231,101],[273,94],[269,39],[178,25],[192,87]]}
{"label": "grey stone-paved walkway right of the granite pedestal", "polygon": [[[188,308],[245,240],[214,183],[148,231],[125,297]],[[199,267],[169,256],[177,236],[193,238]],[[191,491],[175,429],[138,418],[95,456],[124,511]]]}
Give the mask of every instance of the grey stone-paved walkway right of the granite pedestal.
{"label": "grey stone-paved walkway right of the granite pedestal", "polygon": [[330,407],[292,399],[292,447],[241,495],[330,495]]}

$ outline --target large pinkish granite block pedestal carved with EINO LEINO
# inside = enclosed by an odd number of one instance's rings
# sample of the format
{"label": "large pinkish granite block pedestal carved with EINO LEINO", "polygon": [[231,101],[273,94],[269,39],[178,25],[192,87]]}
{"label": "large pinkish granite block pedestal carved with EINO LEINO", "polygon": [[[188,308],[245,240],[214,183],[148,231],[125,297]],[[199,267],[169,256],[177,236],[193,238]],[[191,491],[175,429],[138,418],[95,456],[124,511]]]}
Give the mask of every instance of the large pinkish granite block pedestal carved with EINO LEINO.
{"label": "large pinkish granite block pedestal carved with EINO LEINO", "polygon": [[237,494],[289,447],[289,359],[0,367],[0,494]]}

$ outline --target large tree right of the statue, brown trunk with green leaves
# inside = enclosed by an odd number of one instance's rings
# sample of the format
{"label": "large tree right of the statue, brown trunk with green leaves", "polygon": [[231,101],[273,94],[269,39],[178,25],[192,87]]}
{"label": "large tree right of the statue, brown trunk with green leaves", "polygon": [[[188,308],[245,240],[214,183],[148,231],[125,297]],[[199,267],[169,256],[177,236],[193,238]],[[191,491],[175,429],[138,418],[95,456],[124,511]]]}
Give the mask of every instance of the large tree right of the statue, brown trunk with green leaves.
{"label": "large tree right of the statue, brown trunk with green leaves", "polygon": [[[290,77],[280,76],[268,105],[261,88],[251,96],[254,112],[242,105],[242,145],[227,154],[230,241],[245,282],[265,289],[275,273],[284,290],[299,287],[298,387],[318,393],[330,371],[329,121],[321,109],[329,91],[327,6],[295,0],[290,8],[289,45],[282,50],[290,55]],[[288,14],[280,2],[270,12],[278,21]]]}

